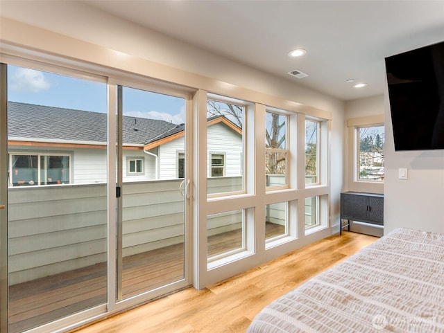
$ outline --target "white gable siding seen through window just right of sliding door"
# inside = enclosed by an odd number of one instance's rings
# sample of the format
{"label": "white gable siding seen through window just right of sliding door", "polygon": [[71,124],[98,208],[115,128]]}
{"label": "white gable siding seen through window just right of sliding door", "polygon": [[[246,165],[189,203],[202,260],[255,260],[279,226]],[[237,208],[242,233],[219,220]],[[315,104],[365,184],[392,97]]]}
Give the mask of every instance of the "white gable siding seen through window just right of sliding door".
{"label": "white gable siding seen through window just right of sliding door", "polygon": [[243,174],[241,156],[242,137],[230,127],[217,123],[207,127],[207,175],[211,177],[211,153],[225,154],[225,177],[235,177]]}

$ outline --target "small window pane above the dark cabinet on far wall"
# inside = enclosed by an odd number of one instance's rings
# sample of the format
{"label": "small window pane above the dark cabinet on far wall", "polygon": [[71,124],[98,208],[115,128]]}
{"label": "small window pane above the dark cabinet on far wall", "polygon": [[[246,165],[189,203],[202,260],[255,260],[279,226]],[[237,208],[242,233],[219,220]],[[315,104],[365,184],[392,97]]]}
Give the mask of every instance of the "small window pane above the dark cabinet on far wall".
{"label": "small window pane above the dark cabinet on far wall", "polygon": [[384,126],[357,127],[357,180],[384,181]]}

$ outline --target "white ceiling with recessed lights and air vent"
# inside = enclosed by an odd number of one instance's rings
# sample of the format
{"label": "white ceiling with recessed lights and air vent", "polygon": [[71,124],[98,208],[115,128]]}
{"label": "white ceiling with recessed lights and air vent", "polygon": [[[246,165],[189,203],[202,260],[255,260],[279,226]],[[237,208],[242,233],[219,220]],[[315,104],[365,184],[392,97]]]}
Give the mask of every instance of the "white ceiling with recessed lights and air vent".
{"label": "white ceiling with recessed lights and air vent", "polygon": [[444,41],[444,1],[84,2],[341,100],[384,93],[384,57]]}

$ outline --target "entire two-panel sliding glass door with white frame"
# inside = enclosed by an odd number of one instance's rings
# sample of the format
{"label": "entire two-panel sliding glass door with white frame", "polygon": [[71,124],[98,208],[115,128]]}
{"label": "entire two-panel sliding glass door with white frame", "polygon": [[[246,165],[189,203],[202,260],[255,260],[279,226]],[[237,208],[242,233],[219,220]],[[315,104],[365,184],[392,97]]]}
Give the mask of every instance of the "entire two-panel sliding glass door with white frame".
{"label": "entire two-panel sliding glass door with white frame", "polygon": [[189,285],[187,93],[52,66],[0,73],[1,332]]}

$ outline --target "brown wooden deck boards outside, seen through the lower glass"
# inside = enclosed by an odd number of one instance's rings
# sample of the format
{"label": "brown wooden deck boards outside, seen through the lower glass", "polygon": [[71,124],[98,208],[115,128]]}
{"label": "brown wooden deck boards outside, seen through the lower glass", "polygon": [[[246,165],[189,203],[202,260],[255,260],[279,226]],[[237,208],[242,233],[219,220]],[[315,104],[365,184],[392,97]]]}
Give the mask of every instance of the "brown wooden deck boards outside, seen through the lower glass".
{"label": "brown wooden deck boards outside, seen through the lower glass", "polygon": [[[267,237],[283,226],[267,224]],[[210,255],[241,246],[241,231],[209,237]],[[213,246],[214,245],[214,246]],[[123,258],[123,297],[183,278],[183,244]],[[106,263],[24,282],[9,288],[9,332],[19,333],[69,314],[106,303]]]}

